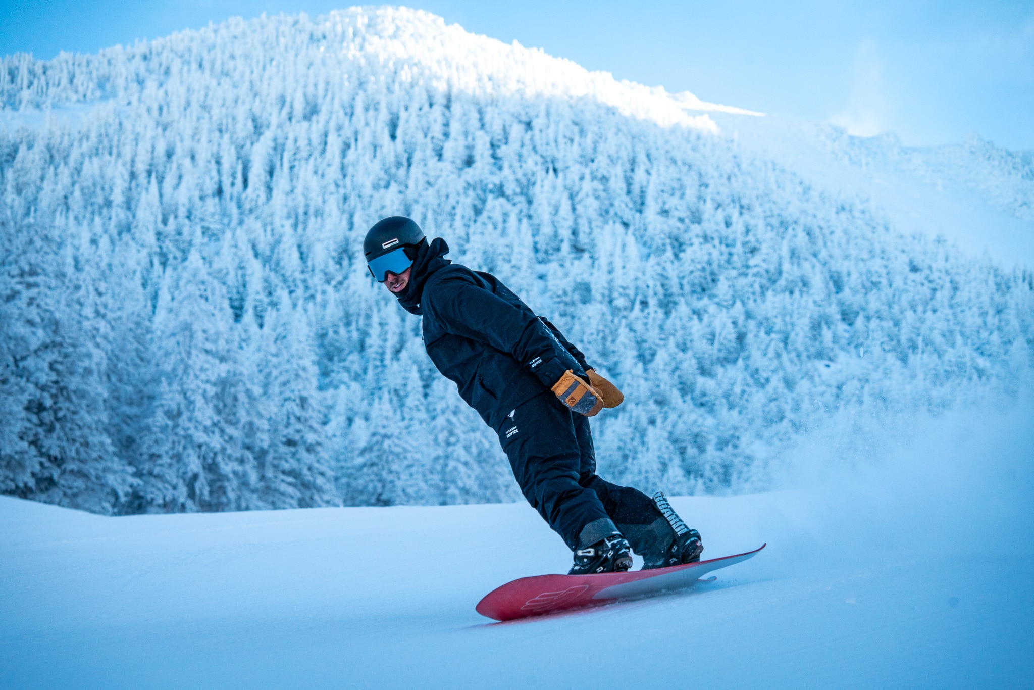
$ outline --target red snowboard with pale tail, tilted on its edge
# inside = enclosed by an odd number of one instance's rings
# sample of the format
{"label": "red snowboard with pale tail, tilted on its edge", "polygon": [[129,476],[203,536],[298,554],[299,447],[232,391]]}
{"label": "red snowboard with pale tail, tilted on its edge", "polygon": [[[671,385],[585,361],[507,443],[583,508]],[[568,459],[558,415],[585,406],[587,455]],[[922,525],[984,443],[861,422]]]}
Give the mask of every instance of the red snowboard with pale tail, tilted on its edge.
{"label": "red snowboard with pale tail, tilted on its edge", "polygon": [[657,570],[600,575],[537,575],[495,588],[478,602],[478,612],[496,621],[539,616],[582,606],[599,606],[615,599],[641,597],[695,584],[702,575],[746,561],[761,548],[710,561]]}

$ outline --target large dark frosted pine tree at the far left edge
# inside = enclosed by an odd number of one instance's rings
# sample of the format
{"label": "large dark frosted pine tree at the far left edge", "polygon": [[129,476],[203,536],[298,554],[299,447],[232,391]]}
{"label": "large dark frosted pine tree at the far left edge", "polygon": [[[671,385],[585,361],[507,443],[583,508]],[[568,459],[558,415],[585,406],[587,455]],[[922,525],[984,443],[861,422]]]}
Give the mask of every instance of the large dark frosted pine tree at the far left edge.
{"label": "large dark frosted pine tree at the far left edge", "polygon": [[[5,249],[0,294],[6,419],[2,483],[16,496],[111,513],[133,478],[108,434],[105,354],[95,296],[59,231],[35,226]],[[59,288],[60,286],[60,288]],[[9,444],[9,445],[8,445]]]}

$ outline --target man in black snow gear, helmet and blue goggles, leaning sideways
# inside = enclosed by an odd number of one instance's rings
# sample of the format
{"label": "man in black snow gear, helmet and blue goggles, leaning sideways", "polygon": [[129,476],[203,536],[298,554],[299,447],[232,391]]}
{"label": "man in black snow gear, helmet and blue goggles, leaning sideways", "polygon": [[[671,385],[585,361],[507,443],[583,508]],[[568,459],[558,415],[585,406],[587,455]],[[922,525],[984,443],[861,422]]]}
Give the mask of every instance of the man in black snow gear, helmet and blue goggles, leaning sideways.
{"label": "man in black snow gear, helmet and blue goggles, leaning sideways", "polygon": [[569,574],[643,569],[700,559],[700,534],[660,491],[652,500],[596,474],[588,417],[621,403],[585,356],[489,273],[444,259],[403,216],[366,234],[373,278],[422,317],[431,361],[499,438],[528,503],[574,551]]}

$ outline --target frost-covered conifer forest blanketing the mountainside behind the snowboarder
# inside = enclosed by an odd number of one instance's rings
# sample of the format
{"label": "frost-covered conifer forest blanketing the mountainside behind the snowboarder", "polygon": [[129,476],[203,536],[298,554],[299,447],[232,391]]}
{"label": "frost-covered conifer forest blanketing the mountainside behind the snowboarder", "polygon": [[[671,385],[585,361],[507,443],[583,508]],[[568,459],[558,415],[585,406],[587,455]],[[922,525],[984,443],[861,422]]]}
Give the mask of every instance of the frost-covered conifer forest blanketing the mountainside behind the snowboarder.
{"label": "frost-covered conifer forest blanketing the mountainside behind the snowboarder", "polygon": [[4,58],[0,491],[100,513],[519,498],[366,270],[394,214],[621,387],[600,470],[643,489],[762,486],[838,411],[1017,386],[1030,271],[908,236],[685,101],[393,8]]}

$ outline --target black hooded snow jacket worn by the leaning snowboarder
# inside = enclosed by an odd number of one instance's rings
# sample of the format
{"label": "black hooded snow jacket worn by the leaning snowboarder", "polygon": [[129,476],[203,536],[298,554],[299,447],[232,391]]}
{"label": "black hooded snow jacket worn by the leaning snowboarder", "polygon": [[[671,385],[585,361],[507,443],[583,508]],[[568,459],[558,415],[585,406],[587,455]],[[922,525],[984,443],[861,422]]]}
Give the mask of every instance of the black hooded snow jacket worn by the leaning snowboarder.
{"label": "black hooded snow jacket worn by the leaning snowboarder", "polygon": [[423,317],[424,347],[438,371],[498,430],[511,410],[568,369],[584,377],[588,364],[495,276],[443,259],[448,252],[442,238],[421,247],[409,283],[396,297]]}

